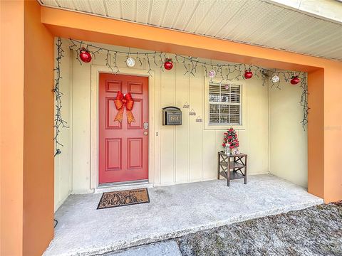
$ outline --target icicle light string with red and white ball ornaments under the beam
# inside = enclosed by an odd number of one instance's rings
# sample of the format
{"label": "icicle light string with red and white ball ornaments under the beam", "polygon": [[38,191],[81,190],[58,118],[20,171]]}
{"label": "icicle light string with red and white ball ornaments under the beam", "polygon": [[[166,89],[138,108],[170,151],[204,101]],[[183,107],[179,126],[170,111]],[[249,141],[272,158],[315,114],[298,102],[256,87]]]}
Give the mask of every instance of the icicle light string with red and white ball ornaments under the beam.
{"label": "icicle light string with red and white ball ornaments under the beam", "polygon": [[[82,62],[88,63],[92,58],[96,58],[99,53],[105,54],[105,65],[113,72],[120,73],[120,68],[118,67],[118,55],[125,55],[125,63],[128,67],[133,68],[135,66],[135,60],[138,60],[140,66],[142,66],[142,59],[145,59],[145,65],[147,65],[147,73],[152,75],[152,67],[159,67],[162,72],[165,70],[171,70],[173,68],[174,61],[169,58],[168,53],[163,52],[135,52],[131,53],[111,50],[108,48],[103,48],[100,46],[95,46],[91,43],[85,43],[83,41],[78,41],[75,39],[69,39],[71,41],[71,50],[76,51],[76,59],[82,65]],[[304,72],[294,72],[294,71],[282,71],[282,70],[270,70],[267,68],[261,68],[257,65],[241,64],[241,63],[207,63],[198,58],[193,58],[191,56],[184,56],[178,54],[170,54],[175,56],[175,62],[184,65],[185,73],[184,75],[195,76],[197,73],[197,68],[202,67],[204,73],[212,78],[221,78],[221,82],[229,82],[231,80],[247,80],[256,76],[257,78],[262,78],[262,85],[265,86],[268,80],[271,81],[271,87],[281,90],[280,82],[284,80],[285,82],[290,82],[291,85],[299,84],[303,90],[301,94],[300,104],[303,107],[303,119],[301,120],[301,125],[305,130],[306,124],[308,123],[308,86],[306,80],[306,73]],[[160,63],[160,64],[158,64]]]}

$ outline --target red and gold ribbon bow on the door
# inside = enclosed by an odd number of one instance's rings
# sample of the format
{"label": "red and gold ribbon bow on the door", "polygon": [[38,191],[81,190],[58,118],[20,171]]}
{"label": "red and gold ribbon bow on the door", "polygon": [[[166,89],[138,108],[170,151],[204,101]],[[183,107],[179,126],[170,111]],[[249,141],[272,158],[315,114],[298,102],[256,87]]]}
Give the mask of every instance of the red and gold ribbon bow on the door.
{"label": "red and gold ribbon bow on the door", "polygon": [[119,121],[120,123],[123,122],[123,110],[125,110],[126,107],[128,124],[130,124],[130,122],[135,122],[132,113],[134,100],[132,99],[132,95],[130,95],[130,92],[128,92],[128,94],[126,95],[123,95],[123,92],[119,91],[116,99],[114,100],[114,104],[116,109],[118,110],[118,114],[116,114],[114,121]]}

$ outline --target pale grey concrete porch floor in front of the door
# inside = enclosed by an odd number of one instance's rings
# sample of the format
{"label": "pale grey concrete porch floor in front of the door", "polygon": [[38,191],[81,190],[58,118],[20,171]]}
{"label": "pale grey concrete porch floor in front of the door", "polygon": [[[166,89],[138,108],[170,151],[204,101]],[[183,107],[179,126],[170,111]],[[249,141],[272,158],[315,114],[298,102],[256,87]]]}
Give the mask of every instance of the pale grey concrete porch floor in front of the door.
{"label": "pale grey concrete porch floor in front of the door", "polygon": [[102,194],[72,195],[57,210],[44,255],[96,255],[265,215],[300,210],[321,198],[281,178],[185,183],[149,188],[150,203],[96,210]]}

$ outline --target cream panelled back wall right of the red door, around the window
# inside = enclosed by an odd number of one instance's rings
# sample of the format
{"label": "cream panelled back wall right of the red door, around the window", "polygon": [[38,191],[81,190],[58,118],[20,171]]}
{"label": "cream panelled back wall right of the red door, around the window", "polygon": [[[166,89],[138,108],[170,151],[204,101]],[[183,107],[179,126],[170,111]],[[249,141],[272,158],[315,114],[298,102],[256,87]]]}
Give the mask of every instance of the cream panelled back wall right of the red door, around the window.
{"label": "cream panelled back wall right of the red door, around the window", "polygon": [[[156,82],[157,102],[155,116],[161,114],[162,107],[175,105],[182,107],[190,103],[197,115],[204,119],[204,73],[200,68],[194,77],[183,75],[185,69],[176,65],[171,72],[160,73],[161,82]],[[157,79],[157,80],[158,80]],[[261,80],[245,82],[247,90],[246,129],[239,130],[241,151],[249,154],[249,174],[266,174],[268,168],[268,90],[261,85]],[[222,130],[204,129],[204,123],[195,122],[188,110],[182,109],[183,123],[180,127],[160,125],[161,117],[156,122],[156,130],[160,131],[157,142],[160,149],[159,159],[155,164],[155,183],[174,184],[192,181],[203,181],[217,177],[217,151],[222,150]],[[257,134],[260,134],[257,135]]]}

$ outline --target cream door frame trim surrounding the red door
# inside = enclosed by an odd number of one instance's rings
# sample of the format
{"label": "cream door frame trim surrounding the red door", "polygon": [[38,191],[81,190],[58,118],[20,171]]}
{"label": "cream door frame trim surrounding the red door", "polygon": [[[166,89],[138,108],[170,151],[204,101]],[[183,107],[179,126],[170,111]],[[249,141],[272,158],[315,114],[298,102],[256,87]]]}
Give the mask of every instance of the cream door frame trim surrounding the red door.
{"label": "cream door frame trim surrounding the red door", "polygon": [[[99,140],[99,132],[98,132],[98,122],[99,122],[99,114],[98,114],[98,87],[99,87],[99,78],[100,73],[109,73],[115,74],[110,68],[105,65],[91,65],[90,67],[90,188],[98,188],[98,140]],[[155,80],[154,73],[150,70],[150,73],[147,70],[136,69],[136,68],[120,68],[120,73],[118,75],[136,75],[148,78],[148,182],[154,182],[154,168],[153,163],[155,161],[154,150],[155,147],[155,137],[152,136],[155,134],[155,123],[154,123],[154,109],[155,102],[153,95],[155,94]],[[134,182],[132,182],[134,183]]]}

